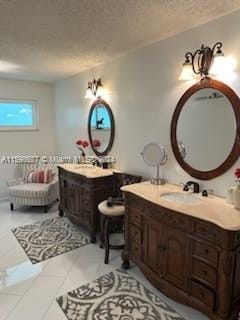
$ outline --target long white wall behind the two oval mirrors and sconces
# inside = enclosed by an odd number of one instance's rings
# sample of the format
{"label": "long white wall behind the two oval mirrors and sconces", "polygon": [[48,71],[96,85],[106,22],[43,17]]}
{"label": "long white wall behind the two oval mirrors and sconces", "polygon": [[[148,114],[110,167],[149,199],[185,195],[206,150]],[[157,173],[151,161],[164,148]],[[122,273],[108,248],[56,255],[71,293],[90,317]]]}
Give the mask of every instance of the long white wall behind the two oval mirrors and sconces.
{"label": "long white wall behind the two oval mirrors and sconces", "polygon": [[[225,55],[233,55],[240,65],[240,11],[206,25],[134,51],[109,63],[59,81],[55,86],[57,150],[61,154],[77,154],[75,141],[87,138],[88,100],[83,98],[87,81],[101,77],[111,96],[108,100],[116,122],[112,154],[121,169],[150,177],[153,169],[141,159],[143,146],[151,141],[161,142],[167,149],[169,161],[164,168],[167,180],[187,181],[190,176],[177,164],[170,145],[170,123],[176,104],[190,86],[178,80],[184,54],[195,51],[202,43],[224,44]],[[240,94],[240,74],[224,81]],[[205,188],[225,195],[234,184],[234,168],[222,176],[201,182]]]}

